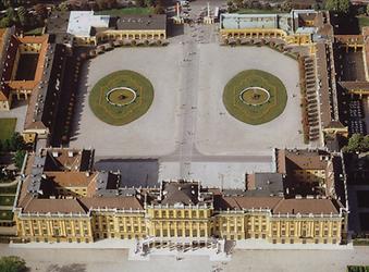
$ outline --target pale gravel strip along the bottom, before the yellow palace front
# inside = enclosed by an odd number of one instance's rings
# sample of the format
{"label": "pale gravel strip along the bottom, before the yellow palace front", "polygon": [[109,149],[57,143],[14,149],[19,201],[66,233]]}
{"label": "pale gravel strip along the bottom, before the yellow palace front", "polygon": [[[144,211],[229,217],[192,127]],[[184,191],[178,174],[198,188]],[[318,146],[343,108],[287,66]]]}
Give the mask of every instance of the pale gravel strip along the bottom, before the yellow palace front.
{"label": "pale gravel strip along the bottom, before the yellow palace front", "polygon": [[[155,256],[150,261],[128,261],[125,249],[20,249],[0,245],[0,256],[24,258],[30,272],[118,271],[232,271],[232,272],[345,272],[347,264],[369,264],[369,247],[354,250],[236,250],[230,262],[207,257]],[[218,269],[218,270],[217,270]]]}

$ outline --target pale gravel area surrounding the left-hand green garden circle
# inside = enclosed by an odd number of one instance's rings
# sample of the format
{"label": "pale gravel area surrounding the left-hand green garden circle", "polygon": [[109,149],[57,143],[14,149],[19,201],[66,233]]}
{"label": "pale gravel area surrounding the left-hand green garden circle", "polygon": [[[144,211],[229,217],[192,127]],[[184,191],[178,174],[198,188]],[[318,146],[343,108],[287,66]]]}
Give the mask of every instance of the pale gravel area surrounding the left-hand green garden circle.
{"label": "pale gravel area surrounding the left-hand green garden circle", "polygon": [[[181,47],[118,48],[90,60],[84,66],[72,147],[94,147],[98,157],[158,157],[175,149],[180,90]],[[88,95],[103,76],[119,70],[132,70],[147,77],[155,91],[146,114],[124,126],[111,126],[91,112]]]}

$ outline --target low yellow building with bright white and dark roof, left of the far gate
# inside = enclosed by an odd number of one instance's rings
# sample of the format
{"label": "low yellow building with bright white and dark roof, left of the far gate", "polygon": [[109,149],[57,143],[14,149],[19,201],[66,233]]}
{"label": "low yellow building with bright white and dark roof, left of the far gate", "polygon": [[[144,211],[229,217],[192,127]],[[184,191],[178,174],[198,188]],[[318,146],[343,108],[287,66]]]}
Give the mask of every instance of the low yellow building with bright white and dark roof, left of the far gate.
{"label": "low yellow building with bright white and dark roof, left of the far gate", "polygon": [[48,32],[58,33],[69,16],[64,39],[73,46],[97,46],[109,41],[158,41],[167,38],[167,15],[96,15],[94,11],[71,11],[51,15]]}

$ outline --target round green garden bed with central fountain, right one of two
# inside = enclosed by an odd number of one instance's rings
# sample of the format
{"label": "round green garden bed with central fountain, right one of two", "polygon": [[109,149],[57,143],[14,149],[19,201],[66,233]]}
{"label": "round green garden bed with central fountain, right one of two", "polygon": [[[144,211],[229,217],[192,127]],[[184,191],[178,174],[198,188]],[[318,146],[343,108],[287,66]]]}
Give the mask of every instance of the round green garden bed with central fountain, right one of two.
{"label": "round green garden bed with central fountain, right one of two", "polygon": [[284,111],[287,92],[276,76],[260,70],[246,70],[225,85],[223,103],[235,119],[260,125]]}

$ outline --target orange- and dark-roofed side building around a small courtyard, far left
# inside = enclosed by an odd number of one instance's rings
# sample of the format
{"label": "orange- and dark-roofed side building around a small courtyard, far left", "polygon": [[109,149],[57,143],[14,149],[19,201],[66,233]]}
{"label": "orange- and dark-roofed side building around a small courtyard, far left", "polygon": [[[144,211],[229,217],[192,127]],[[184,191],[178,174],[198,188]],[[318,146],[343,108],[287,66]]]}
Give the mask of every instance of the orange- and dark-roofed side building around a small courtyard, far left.
{"label": "orange- and dark-roofed side building around a small courtyard, far left", "polygon": [[49,35],[23,37],[14,27],[2,28],[0,35],[0,110],[11,110],[14,99],[27,100],[25,141],[48,139],[57,119],[66,47],[49,42]]}

